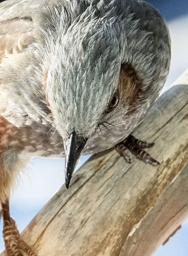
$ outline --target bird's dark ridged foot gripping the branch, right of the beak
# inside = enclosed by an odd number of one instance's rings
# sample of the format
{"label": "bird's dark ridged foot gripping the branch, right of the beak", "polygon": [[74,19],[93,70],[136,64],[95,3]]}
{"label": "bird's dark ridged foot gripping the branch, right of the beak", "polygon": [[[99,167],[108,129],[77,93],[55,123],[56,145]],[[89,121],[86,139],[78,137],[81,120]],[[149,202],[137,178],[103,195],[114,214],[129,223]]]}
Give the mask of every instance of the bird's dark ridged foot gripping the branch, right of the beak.
{"label": "bird's dark ridged foot gripping the branch, right of the beak", "polygon": [[160,163],[143,150],[143,148],[150,148],[153,145],[154,143],[147,143],[146,141],[136,139],[133,135],[129,135],[126,139],[116,145],[116,150],[128,163],[131,163],[131,157],[129,154],[129,152],[131,152],[144,162],[157,166]]}

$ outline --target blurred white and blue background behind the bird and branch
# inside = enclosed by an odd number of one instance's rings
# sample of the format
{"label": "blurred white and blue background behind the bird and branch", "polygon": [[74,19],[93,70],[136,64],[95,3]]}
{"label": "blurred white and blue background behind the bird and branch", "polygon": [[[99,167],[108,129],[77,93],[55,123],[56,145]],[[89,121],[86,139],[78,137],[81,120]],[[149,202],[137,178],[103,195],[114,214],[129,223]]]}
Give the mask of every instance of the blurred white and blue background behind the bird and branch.
{"label": "blurred white and blue background behind the bird and branch", "polygon": [[[0,1],[2,2],[2,1]],[[163,15],[170,28],[172,38],[172,64],[164,90],[188,68],[188,0],[150,0]],[[163,91],[164,91],[163,90]],[[88,157],[81,157],[77,167]],[[49,198],[64,183],[64,160],[36,158],[20,177],[19,186],[11,197],[11,215],[16,219],[20,232],[47,203]],[[50,186],[49,186],[50,184]],[[4,250],[0,223],[0,252]],[[159,247],[154,256],[188,255],[188,220],[170,238],[166,245]]]}

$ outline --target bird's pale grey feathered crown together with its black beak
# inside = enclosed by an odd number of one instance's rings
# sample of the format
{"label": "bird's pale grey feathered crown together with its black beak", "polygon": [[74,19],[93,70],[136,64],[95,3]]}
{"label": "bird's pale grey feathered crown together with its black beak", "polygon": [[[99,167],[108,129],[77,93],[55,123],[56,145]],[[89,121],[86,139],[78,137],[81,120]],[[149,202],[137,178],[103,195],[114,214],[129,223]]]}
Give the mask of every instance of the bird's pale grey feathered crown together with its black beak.
{"label": "bird's pale grey feathered crown together with its black beak", "polygon": [[107,25],[95,26],[67,33],[47,74],[47,99],[64,141],[66,188],[87,140],[119,100],[119,44]]}

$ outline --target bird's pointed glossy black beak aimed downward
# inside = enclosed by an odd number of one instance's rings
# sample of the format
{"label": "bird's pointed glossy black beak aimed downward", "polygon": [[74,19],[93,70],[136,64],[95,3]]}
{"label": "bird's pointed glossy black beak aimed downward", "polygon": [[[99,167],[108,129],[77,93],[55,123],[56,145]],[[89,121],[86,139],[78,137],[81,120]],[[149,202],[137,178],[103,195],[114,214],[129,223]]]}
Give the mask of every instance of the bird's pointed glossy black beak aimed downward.
{"label": "bird's pointed glossy black beak aimed downward", "polygon": [[71,133],[69,139],[64,139],[65,148],[65,187],[69,189],[72,174],[78,163],[87,139],[78,137],[75,132]]}

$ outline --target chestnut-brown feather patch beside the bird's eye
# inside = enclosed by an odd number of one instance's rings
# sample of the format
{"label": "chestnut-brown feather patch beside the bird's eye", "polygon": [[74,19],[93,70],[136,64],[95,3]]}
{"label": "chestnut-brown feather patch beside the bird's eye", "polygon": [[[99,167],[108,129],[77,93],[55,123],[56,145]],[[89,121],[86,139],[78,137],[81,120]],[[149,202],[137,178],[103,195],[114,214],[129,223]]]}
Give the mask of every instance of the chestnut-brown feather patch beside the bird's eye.
{"label": "chestnut-brown feather patch beside the bird's eye", "polygon": [[121,64],[119,75],[119,97],[123,105],[128,106],[128,112],[138,106],[143,88],[143,80],[130,63]]}

